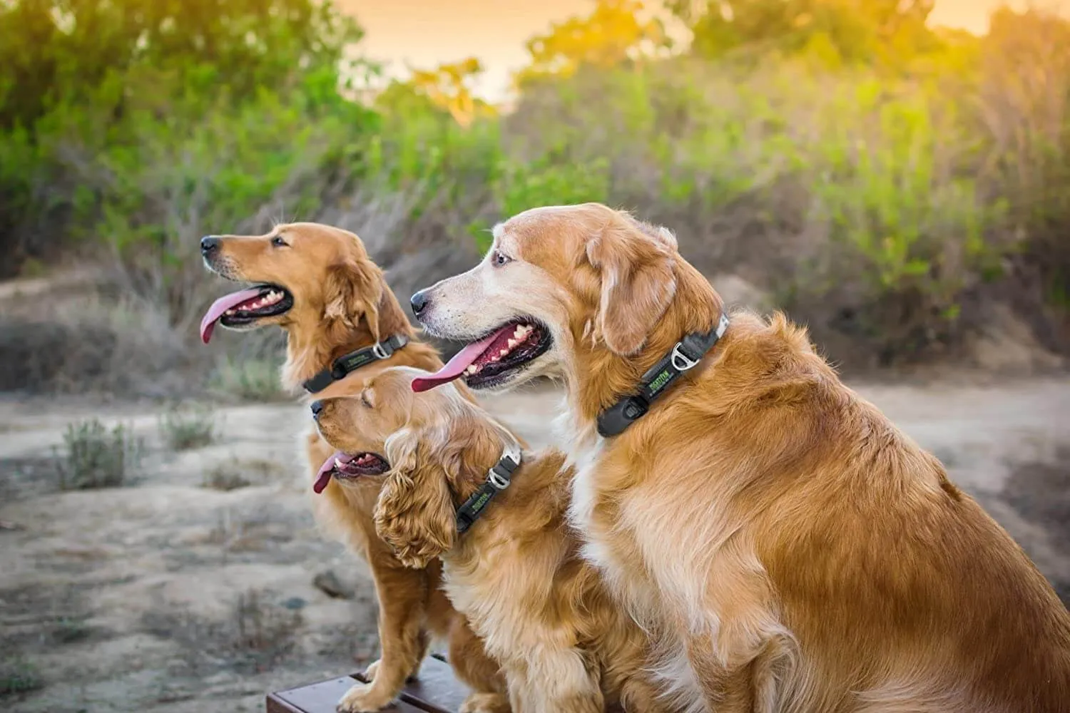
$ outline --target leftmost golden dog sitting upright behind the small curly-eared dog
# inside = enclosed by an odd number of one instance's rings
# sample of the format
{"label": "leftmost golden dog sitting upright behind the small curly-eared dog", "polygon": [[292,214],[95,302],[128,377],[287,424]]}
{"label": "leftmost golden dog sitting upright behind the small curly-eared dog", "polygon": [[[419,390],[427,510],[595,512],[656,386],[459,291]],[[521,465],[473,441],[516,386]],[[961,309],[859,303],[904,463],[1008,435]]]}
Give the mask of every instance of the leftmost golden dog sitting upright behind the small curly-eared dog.
{"label": "leftmost golden dog sitting upright behind the small curly-eared dog", "polygon": [[[201,252],[210,269],[231,280],[255,283],[218,299],[204,315],[208,342],[216,323],[229,329],[278,325],[287,334],[282,381],[317,397],[353,393],[349,374],[388,366],[441,366],[422,343],[360,238],[316,223],[278,226],[266,235],[209,236]],[[318,518],[370,565],[379,598],[382,656],[367,671],[370,683],[354,685],[339,711],[377,711],[400,692],[427,653],[430,637],[448,638],[449,661],[476,694],[467,711],[507,711],[504,680],[463,617],[440,587],[441,563],[403,565],[376,536],[372,510],[381,478],[355,465],[333,466],[334,449],[310,429],[306,455]],[[328,464],[321,467],[322,464]],[[373,469],[373,468],[372,468]]]}

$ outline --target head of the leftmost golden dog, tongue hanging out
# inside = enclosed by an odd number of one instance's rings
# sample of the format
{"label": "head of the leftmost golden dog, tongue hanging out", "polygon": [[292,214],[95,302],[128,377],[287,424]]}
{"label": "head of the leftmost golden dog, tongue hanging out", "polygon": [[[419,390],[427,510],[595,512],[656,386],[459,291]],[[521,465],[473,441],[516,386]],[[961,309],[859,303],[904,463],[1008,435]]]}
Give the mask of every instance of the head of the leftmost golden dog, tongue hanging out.
{"label": "head of the leftmost golden dog, tongue hanging out", "polygon": [[212,305],[201,322],[205,343],[216,323],[228,329],[320,323],[352,327],[366,317],[372,332],[378,331],[383,276],[353,233],[289,223],[265,235],[207,236],[201,254],[210,270],[253,283]]}

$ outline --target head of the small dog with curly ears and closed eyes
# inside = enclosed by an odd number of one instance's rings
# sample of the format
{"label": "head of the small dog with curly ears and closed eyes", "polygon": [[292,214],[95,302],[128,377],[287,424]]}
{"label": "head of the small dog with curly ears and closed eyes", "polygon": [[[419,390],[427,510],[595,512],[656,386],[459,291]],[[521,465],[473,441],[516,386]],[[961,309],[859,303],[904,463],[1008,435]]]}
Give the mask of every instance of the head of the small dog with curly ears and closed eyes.
{"label": "head of the small dog with curly ears and closed eyes", "polygon": [[381,482],[376,530],[413,568],[453,547],[457,507],[486,478],[511,436],[452,386],[412,391],[427,372],[385,369],[357,396],[312,404],[317,428],[338,452],[324,463],[317,489],[331,479]]}

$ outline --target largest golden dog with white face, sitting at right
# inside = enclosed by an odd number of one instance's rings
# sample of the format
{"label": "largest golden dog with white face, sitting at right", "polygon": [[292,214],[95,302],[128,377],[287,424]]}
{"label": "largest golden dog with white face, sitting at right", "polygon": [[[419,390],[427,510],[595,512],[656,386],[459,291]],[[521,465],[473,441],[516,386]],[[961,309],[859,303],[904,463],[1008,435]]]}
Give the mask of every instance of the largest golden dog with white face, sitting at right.
{"label": "largest golden dog with white face, sitting at right", "polygon": [[[804,329],[734,315],[673,235],[526,211],[417,293],[463,376],[567,388],[569,516],[663,670],[717,713],[1066,713],[1070,615],[939,462]],[[505,337],[503,341],[502,338]]]}

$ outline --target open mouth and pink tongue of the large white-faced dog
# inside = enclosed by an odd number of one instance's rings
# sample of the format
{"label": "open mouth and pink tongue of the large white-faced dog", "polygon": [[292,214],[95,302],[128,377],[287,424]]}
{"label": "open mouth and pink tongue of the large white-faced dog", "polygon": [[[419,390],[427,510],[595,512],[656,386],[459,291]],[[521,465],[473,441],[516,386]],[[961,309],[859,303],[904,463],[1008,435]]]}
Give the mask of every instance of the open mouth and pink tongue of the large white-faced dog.
{"label": "open mouth and pink tongue of the large white-faced dog", "polygon": [[553,340],[545,325],[528,317],[508,322],[478,339],[431,374],[413,379],[413,391],[427,391],[464,377],[474,389],[500,386],[550,348]]}

